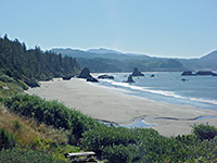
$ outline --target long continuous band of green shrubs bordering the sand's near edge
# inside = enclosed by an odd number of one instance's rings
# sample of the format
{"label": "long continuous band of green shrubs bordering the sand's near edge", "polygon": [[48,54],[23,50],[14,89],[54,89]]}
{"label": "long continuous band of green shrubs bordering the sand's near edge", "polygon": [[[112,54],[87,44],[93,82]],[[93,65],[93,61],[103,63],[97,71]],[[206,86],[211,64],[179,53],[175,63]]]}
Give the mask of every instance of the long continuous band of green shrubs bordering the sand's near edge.
{"label": "long continuous band of green shrubs bordering the sand's near edge", "polygon": [[[72,129],[68,141],[95,151],[108,162],[215,162],[217,128],[195,125],[187,136],[164,137],[151,128],[124,128],[100,124],[56,101],[16,95],[4,99],[5,106],[23,116],[56,128]],[[41,116],[40,116],[41,115]]]}

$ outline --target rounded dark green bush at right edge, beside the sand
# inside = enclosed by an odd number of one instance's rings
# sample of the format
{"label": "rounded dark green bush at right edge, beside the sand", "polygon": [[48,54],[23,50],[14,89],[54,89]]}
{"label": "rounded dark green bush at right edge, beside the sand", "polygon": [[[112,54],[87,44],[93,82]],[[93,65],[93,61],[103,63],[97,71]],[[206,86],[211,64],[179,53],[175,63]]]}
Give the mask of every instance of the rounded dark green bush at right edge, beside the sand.
{"label": "rounded dark green bush at right edge, beside the sand", "polygon": [[197,136],[201,140],[213,139],[217,136],[217,128],[207,124],[200,124],[193,126],[193,134]]}

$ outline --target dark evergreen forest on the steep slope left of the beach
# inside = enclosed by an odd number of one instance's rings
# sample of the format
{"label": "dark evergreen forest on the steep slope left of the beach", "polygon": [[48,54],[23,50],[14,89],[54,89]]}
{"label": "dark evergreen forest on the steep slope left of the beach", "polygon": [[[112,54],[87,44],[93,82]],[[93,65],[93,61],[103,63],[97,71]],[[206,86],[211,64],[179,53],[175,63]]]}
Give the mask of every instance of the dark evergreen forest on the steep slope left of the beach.
{"label": "dark evergreen forest on the steep slope left of the beach", "polygon": [[17,39],[7,35],[0,38],[0,72],[14,79],[46,80],[52,77],[75,75],[79,66],[75,59],[62,58],[54,52],[42,52],[39,47],[26,49]]}

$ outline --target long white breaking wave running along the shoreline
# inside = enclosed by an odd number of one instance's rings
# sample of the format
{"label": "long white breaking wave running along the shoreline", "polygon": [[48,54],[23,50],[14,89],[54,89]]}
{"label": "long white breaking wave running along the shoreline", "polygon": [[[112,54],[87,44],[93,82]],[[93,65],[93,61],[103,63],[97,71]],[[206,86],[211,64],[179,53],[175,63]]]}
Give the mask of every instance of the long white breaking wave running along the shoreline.
{"label": "long white breaking wave running along the shoreline", "polygon": [[112,86],[120,86],[120,87],[130,88],[131,90],[140,90],[140,91],[145,91],[145,92],[150,92],[150,93],[182,99],[182,100],[190,100],[190,101],[195,101],[195,102],[217,104],[217,100],[206,100],[206,99],[200,99],[200,98],[182,97],[182,96],[176,95],[174,91],[153,90],[149,87],[139,87],[139,86],[130,85],[128,83],[118,83],[118,82],[108,80],[108,79],[104,79],[103,82],[106,82],[106,83],[111,84]]}

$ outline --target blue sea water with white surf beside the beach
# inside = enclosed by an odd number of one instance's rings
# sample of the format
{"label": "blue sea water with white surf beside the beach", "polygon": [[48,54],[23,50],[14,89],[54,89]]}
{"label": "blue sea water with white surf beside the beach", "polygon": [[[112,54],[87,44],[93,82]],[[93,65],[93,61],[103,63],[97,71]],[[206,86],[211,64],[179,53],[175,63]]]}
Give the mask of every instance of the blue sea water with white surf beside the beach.
{"label": "blue sea water with white surf beside the beach", "polygon": [[[114,80],[100,79],[98,85],[123,88],[130,90],[129,95],[161,102],[217,110],[216,76],[181,76],[181,73],[167,72],[143,74],[144,77],[133,77],[136,83],[132,84],[123,83],[129,74],[110,74]],[[152,74],[155,77],[150,77]],[[187,80],[182,82],[183,78]]]}

